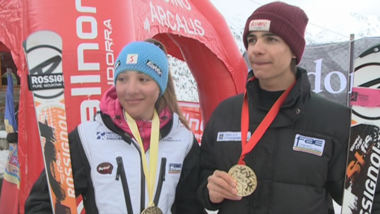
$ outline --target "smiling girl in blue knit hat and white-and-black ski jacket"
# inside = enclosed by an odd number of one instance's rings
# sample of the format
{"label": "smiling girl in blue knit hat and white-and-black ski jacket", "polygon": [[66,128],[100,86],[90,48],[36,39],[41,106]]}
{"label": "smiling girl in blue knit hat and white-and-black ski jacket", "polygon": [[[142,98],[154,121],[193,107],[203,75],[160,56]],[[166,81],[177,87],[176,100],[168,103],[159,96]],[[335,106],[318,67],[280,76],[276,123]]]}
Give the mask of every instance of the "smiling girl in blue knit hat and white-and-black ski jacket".
{"label": "smiling girl in blue knit hat and white-and-black ski jacket", "polygon": [[[179,110],[166,50],[132,42],[116,59],[115,86],[95,121],[69,134],[76,195],[87,213],[201,213],[199,145]],[[50,212],[43,171],[25,212]]]}

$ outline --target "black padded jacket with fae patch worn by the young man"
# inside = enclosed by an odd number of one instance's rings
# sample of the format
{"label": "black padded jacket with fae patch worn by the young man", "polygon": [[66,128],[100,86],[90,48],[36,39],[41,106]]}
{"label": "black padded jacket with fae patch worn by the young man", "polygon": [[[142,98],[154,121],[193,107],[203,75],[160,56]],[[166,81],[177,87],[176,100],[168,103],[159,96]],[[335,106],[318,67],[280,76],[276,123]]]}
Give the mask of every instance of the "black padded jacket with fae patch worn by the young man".
{"label": "black padded jacket with fae patch worn by the young man", "polygon": [[[250,72],[252,75],[252,72]],[[342,203],[350,109],[310,91],[307,72],[298,68],[296,84],[245,163],[257,176],[255,192],[240,201],[209,200],[207,177],[237,163],[241,151],[243,94],[223,101],[212,113],[201,142],[198,196],[218,213],[328,213],[331,198]],[[258,80],[246,85],[252,134],[268,107],[261,103]]]}

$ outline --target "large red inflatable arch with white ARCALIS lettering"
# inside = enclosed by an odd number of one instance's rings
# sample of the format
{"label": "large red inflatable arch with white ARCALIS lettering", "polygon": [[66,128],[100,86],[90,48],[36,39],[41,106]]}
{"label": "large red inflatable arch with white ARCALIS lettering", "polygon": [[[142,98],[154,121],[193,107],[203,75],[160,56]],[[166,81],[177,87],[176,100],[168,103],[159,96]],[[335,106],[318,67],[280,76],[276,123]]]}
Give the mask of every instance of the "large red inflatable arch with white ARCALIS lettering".
{"label": "large red inflatable arch with white ARCALIS lettering", "polygon": [[133,40],[154,37],[169,54],[187,62],[204,125],[218,103],[244,90],[244,58],[223,16],[207,0],[0,0],[0,10],[6,17],[0,22],[0,42],[11,50],[21,78],[21,213],[44,166],[22,51],[30,33],[52,30],[63,39],[68,131],[92,118],[101,94],[113,83],[117,54]]}

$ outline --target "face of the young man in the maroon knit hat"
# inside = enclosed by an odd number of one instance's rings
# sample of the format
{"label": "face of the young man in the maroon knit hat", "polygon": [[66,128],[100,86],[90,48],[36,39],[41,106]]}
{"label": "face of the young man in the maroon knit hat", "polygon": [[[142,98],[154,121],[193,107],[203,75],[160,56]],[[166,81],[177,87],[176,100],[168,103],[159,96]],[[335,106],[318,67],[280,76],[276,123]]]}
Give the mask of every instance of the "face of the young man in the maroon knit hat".
{"label": "face of the young man in the maroon knit hat", "polygon": [[279,36],[268,31],[252,31],[247,36],[248,60],[259,80],[280,80],[293,75],[290,69],[290,47]]}

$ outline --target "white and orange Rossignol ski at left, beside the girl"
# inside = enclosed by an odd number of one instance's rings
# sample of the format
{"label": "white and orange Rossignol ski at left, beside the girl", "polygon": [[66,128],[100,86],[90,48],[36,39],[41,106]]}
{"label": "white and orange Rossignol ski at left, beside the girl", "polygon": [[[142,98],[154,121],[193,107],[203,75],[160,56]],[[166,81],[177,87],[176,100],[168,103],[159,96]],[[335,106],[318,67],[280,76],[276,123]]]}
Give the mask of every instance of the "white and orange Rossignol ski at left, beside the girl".
{"label": "white and orange Rossignol ski at left, beside the girl", "polygon": [[37,31],[23,46],[52,210],[77,213],[63,90],[62,38],[52,31]]}

